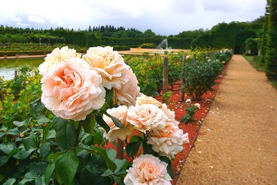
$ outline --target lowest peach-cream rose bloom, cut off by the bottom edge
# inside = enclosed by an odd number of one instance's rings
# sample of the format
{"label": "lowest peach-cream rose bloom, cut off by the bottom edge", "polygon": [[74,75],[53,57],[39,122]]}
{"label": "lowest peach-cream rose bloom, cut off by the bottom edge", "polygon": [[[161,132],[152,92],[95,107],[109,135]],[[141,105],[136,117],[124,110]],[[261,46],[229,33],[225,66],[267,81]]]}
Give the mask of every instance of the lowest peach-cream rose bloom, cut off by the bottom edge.
{"label": "lowest peach-cream rose bloom, cut off by the bottom edge", "polygon": [[125,185],[171,185],[168,164],[153,155],[140,155],[127,170]]}

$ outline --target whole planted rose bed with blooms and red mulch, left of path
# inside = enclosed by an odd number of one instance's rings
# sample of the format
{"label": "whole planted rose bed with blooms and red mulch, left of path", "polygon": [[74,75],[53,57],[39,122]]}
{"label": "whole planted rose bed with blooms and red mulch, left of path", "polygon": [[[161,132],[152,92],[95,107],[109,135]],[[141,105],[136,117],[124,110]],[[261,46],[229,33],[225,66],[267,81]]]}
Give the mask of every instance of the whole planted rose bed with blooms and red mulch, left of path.
{"label": "whole planted rose bed with blooms and red mulch, left of path", "polygon": [[[54,49],[39,71],[23,68],[3,82],[3,182],[174,183],[199,130],[195,112],[211,104],[208,91],[231,56],[225,49],[124,59],[109,46],[84,55]],[[177,105],[184,113],[175,116]]]}

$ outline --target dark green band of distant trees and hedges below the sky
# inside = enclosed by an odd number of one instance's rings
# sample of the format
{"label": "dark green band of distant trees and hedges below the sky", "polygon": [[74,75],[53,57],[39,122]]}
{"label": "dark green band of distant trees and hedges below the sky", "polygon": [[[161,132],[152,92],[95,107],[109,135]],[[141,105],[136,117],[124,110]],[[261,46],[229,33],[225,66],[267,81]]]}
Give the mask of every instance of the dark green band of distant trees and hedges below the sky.
{"label": "dark green band of distant trees and hedges below the sky", "polygon": [[177,35],[157,35],[148,29],[142,32],[135,28],[106,26],[89,26],[87,30],[69,28],[15,28],[0,26],[0,44],[10,43],[43,43],[73,44],[78,46],[125,46],[139,47],[144,43],[152,43],[148,47],[157,46],[163,39],[168,39],[172,49],[190,49],[211,47],[215,49],[230,48],[235,53],[243,53],[245,41],[249,37],[260,37],[264,17],[249,22],[220,23],[211,30],[188,30]]}

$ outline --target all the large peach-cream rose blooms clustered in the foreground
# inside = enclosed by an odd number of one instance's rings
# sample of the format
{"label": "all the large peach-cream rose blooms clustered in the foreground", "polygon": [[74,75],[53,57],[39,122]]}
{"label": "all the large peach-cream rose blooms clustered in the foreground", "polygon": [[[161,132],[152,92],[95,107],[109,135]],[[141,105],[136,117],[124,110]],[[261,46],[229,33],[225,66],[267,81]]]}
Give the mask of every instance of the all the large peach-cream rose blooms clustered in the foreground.
{"label": "all the large peach-cream rose blooms clustered in the foreground", "polygon": [[[109,141],[125,141],[134,130],[147,138],[147,143],[159,155],[175,159],[175,155],[188,143],[188,133],[178,127],[175,112],[166,104],[141,94],[136,75],[125,64],[122,56],[113,48],[92,47],[81,55],[67,46],[54,49],[39,66],[42,75],[42,103],[55,116],[84,120],[93,110],[105,104],[107,89],[114,91],[114,108],[107,113],[122,123],[104,115],[109,132],[104,131]],[[170,184],[167,164],[152,155],[134,159],[127,170],[125,184]]]}

